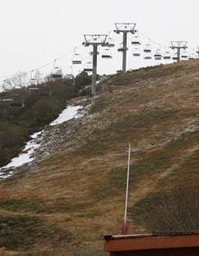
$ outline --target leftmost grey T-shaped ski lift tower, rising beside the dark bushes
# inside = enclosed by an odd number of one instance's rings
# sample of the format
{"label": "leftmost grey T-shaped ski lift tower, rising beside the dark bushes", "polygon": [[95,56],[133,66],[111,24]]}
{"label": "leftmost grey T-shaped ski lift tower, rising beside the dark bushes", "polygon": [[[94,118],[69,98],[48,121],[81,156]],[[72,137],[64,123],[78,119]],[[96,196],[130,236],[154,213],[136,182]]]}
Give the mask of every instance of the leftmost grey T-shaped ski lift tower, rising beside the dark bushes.
{"label": "leftmost grey T-shaped ski lift tower, rising beside the dark bushes", "polygon": [[108,34],[84,34],[83,42],[84,46],[92,46],[92,84],[91,84],[91,94],[96,95],[96,82],[97,82],[97,64],[98,64],[98,47],[99,46],[109,46],[107,42]]}

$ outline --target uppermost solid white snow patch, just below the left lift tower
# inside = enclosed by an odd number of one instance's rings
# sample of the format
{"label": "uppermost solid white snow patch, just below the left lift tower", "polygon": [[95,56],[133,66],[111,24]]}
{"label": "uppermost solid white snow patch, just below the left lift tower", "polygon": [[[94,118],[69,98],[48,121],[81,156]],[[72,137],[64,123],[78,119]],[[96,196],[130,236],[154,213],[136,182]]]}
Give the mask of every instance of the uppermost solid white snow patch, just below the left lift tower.
{"label": "uppermost solid white snow patch, just below the left lift tower", "polygon": [[81,114],[79,111],[82,109],[82,107],[79,106],[68,106],[65,108],[62,113],[59,114],[58,118],[55,119],[52,123],[50,123],[51,126],[64,123],[66,121],[71,120],[72,118],[78,118],[81,117]]}

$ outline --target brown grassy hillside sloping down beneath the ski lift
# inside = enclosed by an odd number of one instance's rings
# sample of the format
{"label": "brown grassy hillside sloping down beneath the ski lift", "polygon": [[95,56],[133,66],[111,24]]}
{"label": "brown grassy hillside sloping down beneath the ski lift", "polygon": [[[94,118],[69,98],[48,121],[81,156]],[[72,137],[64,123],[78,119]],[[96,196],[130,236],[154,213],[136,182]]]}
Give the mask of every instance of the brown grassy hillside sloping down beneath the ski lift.
{"label": "brown grassy hillside sloping down beneath the ski lift", "polygon": [[103,255],[103,235],[119,233],[123,216],[128,143],[131,231],[199,229],[198,99],[198,60],[100,84],[86,116],[49,131],[47,159],[0,183],[0,247]]}

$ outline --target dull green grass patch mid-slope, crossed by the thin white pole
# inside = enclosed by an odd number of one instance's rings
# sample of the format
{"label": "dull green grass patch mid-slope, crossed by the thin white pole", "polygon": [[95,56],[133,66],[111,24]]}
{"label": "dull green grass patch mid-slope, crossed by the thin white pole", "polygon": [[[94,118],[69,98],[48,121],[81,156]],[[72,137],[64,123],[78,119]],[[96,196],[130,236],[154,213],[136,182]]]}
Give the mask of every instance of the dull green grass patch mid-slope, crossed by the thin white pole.
{"label": "dull green grass patch mid-slope, crossed by the thin white pole", "polygon": [[[129,186],[135,189],[138,182],[143,179],[150,179],[154,174],[165,172],[171,164],[171,157],[164,153],[149,154],[144,159],[130,165]],[[108,182],[100,187],[90,190],[90,195],[95,200],[104,200],[124,192],[127,181],[127,166],[114,168],[109,171]]]}

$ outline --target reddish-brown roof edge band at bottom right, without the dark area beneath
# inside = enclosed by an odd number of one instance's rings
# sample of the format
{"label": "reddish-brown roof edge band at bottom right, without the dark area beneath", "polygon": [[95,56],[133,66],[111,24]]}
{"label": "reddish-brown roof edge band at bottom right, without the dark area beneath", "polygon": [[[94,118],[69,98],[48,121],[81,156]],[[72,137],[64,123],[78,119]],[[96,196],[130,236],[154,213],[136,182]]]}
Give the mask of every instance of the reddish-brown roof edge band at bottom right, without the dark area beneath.
{"label": "reddish-brown roof edge band at bottom right, without the dark area beneath", "polygon": [[105,251],[199,248],[199,232],[105,236]]}

